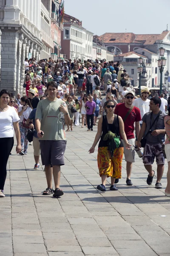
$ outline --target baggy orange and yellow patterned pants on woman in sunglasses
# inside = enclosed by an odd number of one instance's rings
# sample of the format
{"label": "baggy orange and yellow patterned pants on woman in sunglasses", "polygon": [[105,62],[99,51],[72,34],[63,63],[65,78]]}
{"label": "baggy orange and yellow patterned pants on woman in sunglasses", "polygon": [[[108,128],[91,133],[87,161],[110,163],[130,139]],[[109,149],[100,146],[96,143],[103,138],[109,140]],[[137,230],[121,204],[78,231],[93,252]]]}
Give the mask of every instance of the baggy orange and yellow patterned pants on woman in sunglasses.
{"label": "baggy orange and yellow patterned pants on woman in sunglasses", "polygon": [[116,148],[111,157],[108,147],[98,148],[97,163],[99,168],[99,175],[107,175],[120,179],[122,177],[122,159],[123,159],[123,147]]}

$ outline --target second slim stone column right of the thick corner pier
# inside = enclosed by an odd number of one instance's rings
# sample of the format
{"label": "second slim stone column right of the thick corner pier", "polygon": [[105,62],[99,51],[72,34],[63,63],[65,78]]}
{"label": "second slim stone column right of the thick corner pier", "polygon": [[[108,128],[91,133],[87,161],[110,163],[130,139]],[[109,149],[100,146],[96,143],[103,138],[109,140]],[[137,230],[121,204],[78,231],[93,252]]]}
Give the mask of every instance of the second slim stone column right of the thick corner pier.
{"label": "second slim stone column right of the thick corner pier", "polygon": [[26,47],[27,47],[27,38],[24,38],[22,50],[21,50],[20,89],[19,89],[19,92],[21,93],[22,96],[23,96],[23,84],[24,84],[24,79],[25,79],[24,61],[25,61],[25,56],[26,56]]}

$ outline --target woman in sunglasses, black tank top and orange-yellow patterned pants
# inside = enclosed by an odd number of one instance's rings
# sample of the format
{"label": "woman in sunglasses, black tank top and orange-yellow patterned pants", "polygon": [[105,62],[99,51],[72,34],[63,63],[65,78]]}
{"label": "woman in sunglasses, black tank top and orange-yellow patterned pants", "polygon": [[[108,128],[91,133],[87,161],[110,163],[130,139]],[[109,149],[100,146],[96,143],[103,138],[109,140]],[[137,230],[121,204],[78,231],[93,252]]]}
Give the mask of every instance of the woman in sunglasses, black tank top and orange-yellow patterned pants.
{"label": "woman in sunglasses, black tank top and orange-yellow patterned pants", "polygon": [[[98,122],[98,130],[92,147],[89,152],[94,153],[95,147],[100,139],[98,146],[97,163],[99,167],[99,175],[102,178],[102,184],[97,186],[97,189],[102,192],[106,191],[106,179],[111,177],[111,190],[118,190],[114,184],[116,178],[122,177],[122,158],[123,158],[123,143],[113,148],[111,137],[114,134],[122,136],[126,148],[130,148],[127,142],[124,131],[124,123],[120,116],[114,114],[114,102],[108,100],[105,105],[106,115],[102,116]],[[108,136],[109,135],[109,136]],[[109,144],[110,143],[110,144]]]}

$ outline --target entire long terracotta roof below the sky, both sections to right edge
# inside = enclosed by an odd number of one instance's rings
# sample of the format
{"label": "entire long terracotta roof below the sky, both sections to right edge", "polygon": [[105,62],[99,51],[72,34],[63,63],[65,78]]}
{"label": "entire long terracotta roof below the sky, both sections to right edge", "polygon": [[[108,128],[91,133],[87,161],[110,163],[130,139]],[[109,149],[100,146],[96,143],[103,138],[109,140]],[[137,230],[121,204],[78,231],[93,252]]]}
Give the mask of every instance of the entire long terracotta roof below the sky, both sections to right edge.
{"label": "entire long terracotta roof below the sky, both sections to right edge", "polygon": [[142,43],[155,44],[156,40],[163,40],[170,31],[163,31],[161,34],[135,35],[133,33],[105,33],[99,36],[103,43]]}

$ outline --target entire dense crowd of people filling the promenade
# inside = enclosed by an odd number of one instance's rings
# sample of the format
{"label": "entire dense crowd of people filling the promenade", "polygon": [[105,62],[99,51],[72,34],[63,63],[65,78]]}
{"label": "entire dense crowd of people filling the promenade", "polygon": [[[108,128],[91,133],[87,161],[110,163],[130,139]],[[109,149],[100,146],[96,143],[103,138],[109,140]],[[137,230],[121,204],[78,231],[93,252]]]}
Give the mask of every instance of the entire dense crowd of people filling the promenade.
{"label": "entire dense crowd of people filling the promenade", "polygon": [[[6,180],[6,165],[17,137],[16,151],[28,154],[28,130],[32,131],[34,169],[39,169],[40,155],[45,165],[47,189],[43,195],[63,195],[59,187],[60,166],[64,165],[66,131],[73,126],[87,127],[97,134],[89,152],[98,145],[98,167],[102,183],[97,189],[106,191],[106,178],[111,177],[111,190],[122,177],[122,159],[126,161],[126,184],[132,186],[131,172],[135,151],[143,148],[142,160],[151,185],[155,171],[155,187],[162,188],[165,158],[168,162],[165,195],[170,196],[170,102],[162,93],[150,95],[144,87],[135,94],[131,78],[121,63],[105,60],[25,60],[23,92],[16,99],[7,90],[0,92],[0,197]],[[21,97],[22,96],[22,97]],[[168,113],[167,113],[168,111]],[[97,122],[98,121],[98,122]],[[76,130],[75,130],[76,131]],[[134,134],[135,131],[135,134]],[[100,141],[99,141],[100,140]],[[4,149],[2,145],[5,144]],[[142,151],[141,151],[142,152]],[[52,174],[55,189],[52,188]]]}

